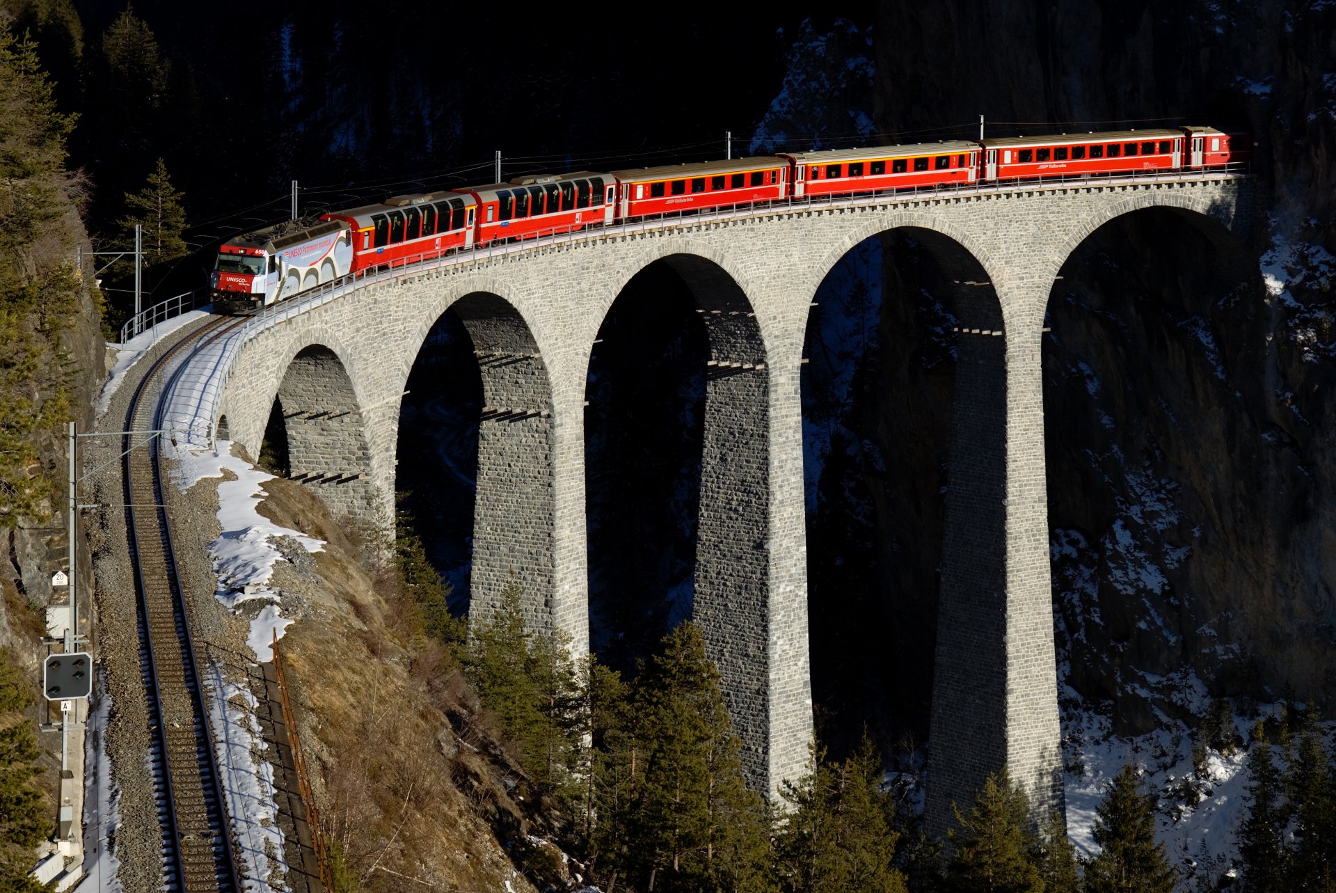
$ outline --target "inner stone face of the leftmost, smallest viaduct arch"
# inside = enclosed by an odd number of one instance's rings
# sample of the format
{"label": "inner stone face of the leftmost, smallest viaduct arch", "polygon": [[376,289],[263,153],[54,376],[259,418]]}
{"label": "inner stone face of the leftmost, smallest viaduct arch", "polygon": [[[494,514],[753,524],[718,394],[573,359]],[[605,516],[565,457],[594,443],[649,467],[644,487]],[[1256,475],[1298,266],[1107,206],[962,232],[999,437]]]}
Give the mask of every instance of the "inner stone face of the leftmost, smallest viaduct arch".
{"label": "inner stone face of the leftmost, smallest viaduct arch", "polygon": [[331,509],[354,517],[377,511],[362,401],[339,353],[321,342],[294,348],[274,401],[282,406],[290,476]]}

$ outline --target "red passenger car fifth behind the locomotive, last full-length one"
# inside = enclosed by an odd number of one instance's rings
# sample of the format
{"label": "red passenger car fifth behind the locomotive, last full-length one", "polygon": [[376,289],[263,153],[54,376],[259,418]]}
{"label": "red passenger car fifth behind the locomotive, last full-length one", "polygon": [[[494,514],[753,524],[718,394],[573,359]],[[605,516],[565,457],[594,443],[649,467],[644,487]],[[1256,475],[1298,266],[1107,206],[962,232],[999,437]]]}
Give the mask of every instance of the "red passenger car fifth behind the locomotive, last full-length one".
{"label": "red passenger car fifth behind the locomotive, last full-length one", "polygon": [[1086,176],[1182,164],[1181,130],[1124,130],[1106,134],[985,139],[985,180]]}

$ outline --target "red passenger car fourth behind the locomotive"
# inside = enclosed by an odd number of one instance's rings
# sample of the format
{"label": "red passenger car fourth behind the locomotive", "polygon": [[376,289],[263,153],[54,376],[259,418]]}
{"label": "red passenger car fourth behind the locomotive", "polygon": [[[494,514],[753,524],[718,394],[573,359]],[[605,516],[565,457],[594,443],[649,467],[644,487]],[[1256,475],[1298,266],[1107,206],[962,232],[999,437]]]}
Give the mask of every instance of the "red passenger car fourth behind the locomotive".
{"label": "red passenger car fourth behind the locomotive", "polygon": [[973,183],[978,172],[979,144],[951,142],[878,146],[798,152],[782,158],[791,164],[795,197],[839,195],[910,186]]}

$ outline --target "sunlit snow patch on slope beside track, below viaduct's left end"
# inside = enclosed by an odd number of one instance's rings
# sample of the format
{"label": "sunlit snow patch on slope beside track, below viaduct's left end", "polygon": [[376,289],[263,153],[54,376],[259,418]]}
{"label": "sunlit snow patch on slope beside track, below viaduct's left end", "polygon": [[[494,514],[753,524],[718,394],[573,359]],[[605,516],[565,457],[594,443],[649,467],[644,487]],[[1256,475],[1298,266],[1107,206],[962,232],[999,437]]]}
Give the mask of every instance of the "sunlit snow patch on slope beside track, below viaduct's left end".
{"label": "sunlit snow patch on slope beside track, below viaduct's left end", "polygon": [[255,599],[270,602],[251,620],[247,638],[255,659],[266,662],[273,656],[270,642],[274,632],[282,638],[283,630],[291,623],[281,614],[279,592],[269,586],[274,564],[282,557],[271,537],[290,536],[307,552],[318,552],[325,544],[301,531],[274,524],[255,511],[266,496],[265,481],[274,475],[232,456],[232,441],[219,440],[212,449],[180,445],[174,457],[178,460],[174,480],[183,491],[203,477],[222,477],[223,469],[235,476],[235,480],[224,480],[218,485],[218,521],[222,532],[208,544],[208,553],[218,575],[219,602],[228,608]]}

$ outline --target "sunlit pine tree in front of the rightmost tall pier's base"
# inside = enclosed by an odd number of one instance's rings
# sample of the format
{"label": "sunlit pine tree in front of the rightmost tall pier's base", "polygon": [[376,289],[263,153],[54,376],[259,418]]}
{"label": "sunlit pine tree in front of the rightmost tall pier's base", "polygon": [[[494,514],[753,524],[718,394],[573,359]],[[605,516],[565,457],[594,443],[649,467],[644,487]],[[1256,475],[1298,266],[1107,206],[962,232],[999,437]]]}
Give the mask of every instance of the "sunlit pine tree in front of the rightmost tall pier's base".
{"label": "sunlit pine tree in front of the rightmost tall pier's base", "polygon": [[1011,786],[1006,767],[990,774],[967,814],[954,807],[947,889],[958,893],[1042,893],[1035,865],[1038,838],[1030,829],[1025,791]]}

